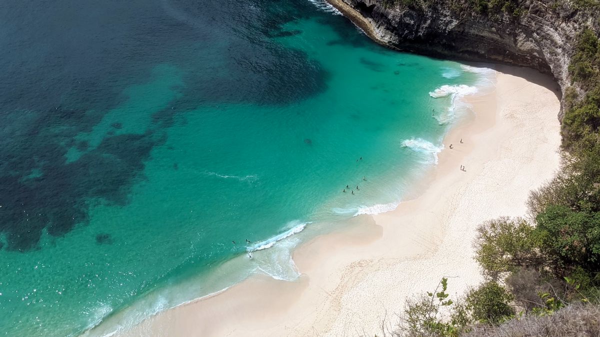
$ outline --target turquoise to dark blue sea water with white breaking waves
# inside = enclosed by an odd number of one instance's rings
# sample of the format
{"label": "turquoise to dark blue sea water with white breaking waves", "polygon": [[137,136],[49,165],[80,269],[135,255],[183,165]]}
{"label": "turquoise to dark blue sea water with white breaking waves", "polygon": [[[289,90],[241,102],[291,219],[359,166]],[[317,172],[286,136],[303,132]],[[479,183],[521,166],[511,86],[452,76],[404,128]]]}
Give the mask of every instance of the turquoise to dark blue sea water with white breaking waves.
{"label": "turquoise to dark blue sea water with white breaking waves", "polygon": [[7,336],[125,327],[254,272],[293,280],[297,233],[392,209],[478,80],[308,1],[63,1],[79,19],[23,33],[49,10],[26,3],[2,14],[20,42],[0,36]]}

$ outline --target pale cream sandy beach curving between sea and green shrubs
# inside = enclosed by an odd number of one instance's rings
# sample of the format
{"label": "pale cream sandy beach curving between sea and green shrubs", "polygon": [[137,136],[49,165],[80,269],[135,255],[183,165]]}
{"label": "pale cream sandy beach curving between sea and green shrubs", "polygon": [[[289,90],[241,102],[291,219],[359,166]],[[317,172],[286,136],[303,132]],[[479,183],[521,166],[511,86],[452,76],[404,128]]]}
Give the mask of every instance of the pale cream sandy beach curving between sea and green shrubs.
{"label": "pale cream sandy beach curving between sea and green shrubs", "polygon": [[530,189],[559,166],[560,105],[547,89],[554,83],[532,70],[497,70],[493,92],[468,98],[475,113],[445,137],[439,164],[414,200],[357,216],[346,230],[299,246],[298,281],[253,276],[162,312],[127,335],[372,336],[383,320],[395,324],[406,297],[432,290],[442,276],[453,276],[451,293],[478,284],[475,227],[525,215]]}

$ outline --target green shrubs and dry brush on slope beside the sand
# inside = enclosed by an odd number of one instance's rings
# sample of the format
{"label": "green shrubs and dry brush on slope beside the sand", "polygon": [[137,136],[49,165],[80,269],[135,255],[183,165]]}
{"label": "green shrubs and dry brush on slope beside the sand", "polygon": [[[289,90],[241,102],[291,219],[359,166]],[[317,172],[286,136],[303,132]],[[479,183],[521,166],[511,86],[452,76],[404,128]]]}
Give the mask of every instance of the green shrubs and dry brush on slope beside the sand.
{"label": "green shrubs and dry brush on slope beside the sand", "polygon": [[450,300],[444,278],[441,292],[407,301],[395,335],[600,333],[600,40],[593,29],[578,33],[568,70],[561,170],[530,193],[527,218],[478,227],[483,284]]}

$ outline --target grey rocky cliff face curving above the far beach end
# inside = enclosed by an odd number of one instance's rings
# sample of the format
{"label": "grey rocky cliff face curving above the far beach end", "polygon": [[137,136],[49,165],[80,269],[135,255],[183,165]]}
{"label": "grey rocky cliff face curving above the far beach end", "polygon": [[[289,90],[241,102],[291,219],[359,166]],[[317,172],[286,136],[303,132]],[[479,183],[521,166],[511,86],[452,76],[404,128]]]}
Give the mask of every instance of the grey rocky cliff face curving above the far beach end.
{"label": "grey rocky cliff face curving above the far beach end", "polygon": [[[406,52],[535,68],[554,76],[564,92],[575,37],[598,31],[593,10],[565,2],[507,2],[495,13],[473,0],[329,0],[378,43]],[[491,4],[491,2],[490,2]],[[366,27],[365,27],[366,26]]]}

